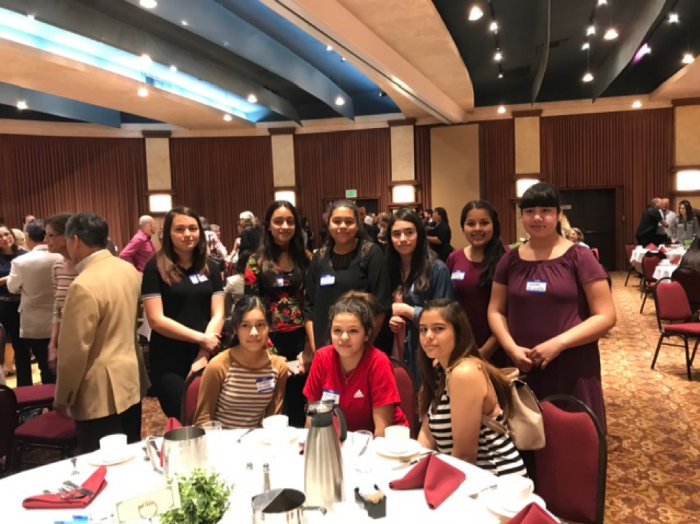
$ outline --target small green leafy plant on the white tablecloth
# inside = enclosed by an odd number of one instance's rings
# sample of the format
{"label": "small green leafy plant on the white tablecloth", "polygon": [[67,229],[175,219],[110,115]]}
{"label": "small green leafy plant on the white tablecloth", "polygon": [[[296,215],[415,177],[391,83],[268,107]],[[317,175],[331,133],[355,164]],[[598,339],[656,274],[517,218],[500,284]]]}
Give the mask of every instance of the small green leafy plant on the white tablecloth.
{"label": "small green leafy plant on the white tablecloth", "polygon": [[175,480],[179,484],[180,508],[163,513],[162,524],[216,524],[228,511],[233,485],[218,473],[196,469],[189,477],[175,475]]}

